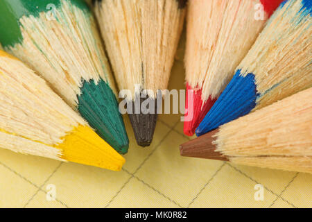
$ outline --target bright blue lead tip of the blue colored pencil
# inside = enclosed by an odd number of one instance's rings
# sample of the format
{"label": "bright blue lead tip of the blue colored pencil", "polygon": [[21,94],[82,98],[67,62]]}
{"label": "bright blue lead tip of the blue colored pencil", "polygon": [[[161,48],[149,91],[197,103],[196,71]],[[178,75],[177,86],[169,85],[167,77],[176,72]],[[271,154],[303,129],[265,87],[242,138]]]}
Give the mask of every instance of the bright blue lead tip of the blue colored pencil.
{"label": "bright blue lead tip of the blue colored pencil", "polygon": [[257,86],[254,74],[241,76],[241,70],[229,82],[219,99],[196,129],[196,135],[208,133],[219,126],[248,114],[255,106]]}

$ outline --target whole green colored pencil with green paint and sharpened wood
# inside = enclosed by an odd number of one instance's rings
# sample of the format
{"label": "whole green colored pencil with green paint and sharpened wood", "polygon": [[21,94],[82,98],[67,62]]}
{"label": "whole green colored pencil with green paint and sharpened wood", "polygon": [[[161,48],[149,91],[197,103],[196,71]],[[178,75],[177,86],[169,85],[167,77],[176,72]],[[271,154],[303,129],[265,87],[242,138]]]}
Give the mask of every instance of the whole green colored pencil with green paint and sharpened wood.
{"label": "whole green colored pencil with green paint and sharpened wood", "polygon": [[41,74],[116,151],[127,153],[110,65],[85,1],[0,1],[0,33],[6,51]]}

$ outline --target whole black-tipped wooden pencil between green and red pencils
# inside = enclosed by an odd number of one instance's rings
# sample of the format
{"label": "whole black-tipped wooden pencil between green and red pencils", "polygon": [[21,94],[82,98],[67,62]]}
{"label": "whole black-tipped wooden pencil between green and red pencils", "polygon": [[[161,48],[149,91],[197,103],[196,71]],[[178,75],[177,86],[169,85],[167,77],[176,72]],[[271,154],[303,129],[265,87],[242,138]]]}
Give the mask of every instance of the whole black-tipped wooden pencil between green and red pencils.
{"label": "whole black-tipped wooden pencil between green and red pencils", "polygon": [[[149,146],[153,139],[157,92],[168,85],[185,5],[186,0],[94,1],[116,82],[131,92],[126,98],[132,108],[128,116],[140,146]],[[135,113],[135,104],[144,101],[150,107]]]}

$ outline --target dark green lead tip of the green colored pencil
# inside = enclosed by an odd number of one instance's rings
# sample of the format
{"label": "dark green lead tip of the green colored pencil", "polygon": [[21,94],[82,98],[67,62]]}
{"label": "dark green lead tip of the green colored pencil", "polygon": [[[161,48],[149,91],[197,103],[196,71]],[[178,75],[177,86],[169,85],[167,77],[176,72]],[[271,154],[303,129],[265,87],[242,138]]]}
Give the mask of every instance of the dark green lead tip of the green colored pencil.
{"label": "dark green lead tip of the green colored pencil", "polygon": [[78,96],[78,111],[96,133],[117,152],[128,152],[129,139],[112,89],[103,80],[83,82]]}

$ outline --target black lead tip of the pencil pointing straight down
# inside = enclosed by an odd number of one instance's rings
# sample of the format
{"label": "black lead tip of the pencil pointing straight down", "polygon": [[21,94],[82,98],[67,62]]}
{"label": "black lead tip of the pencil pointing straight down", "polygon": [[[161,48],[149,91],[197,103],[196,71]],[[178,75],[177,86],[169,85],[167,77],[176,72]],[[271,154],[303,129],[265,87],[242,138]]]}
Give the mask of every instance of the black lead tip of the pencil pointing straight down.
{"label": "black lead tip of the pencil pointing straight down", "polygon": [[[140,103],[138,103],[140,102]],[[141,110],[141,105],[137,104],[148,104],[146,106],[146,112]],[[135,105],[139,108],[139,112],[135,113]],[[132,108],[130,111],[129,108]],[[156,121],[157,121],[157,103],[155,99],[148,96],[146,98],[139,98],[137,96],[135,101],[130,101],[128,103],[128,116],[135,133],[135,139],[139,146],[150,146],[153,140],[153,135],[155,131]]]}

